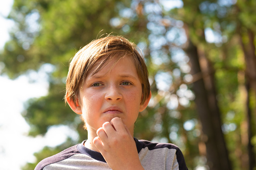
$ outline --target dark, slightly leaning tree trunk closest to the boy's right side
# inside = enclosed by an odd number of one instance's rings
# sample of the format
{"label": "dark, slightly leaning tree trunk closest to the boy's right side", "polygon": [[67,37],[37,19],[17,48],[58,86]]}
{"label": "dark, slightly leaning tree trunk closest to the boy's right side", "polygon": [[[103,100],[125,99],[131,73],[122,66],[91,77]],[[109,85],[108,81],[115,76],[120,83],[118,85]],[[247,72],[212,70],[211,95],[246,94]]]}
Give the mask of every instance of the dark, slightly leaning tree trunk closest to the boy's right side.
{"label": "dark, slightly leaning tree trunk closest to the boy's right side", "polygon": [[[222,123],[216,100],[214,72],[206,77],[202,74],[199,57],[200,50],[190,41],[189,30],[185,24],[184,29],[187,35],[187,43],[183,50],[189,57],[191,66],[190,73],[191,75],[201,74],[202,76],[201,79],[194,81],[193,90],[196,95],[195,102],[202,123],[204,133],[202,139],[206,144],[208,165],[210,169],[214,170],[231,169],[225,140],[221,130]],[[206,64],[209,65],[209,62]],[[207,71],[209,71],[209,68]],[[205,80],[207,79],[207,85],[205,84],[204,78]]]}

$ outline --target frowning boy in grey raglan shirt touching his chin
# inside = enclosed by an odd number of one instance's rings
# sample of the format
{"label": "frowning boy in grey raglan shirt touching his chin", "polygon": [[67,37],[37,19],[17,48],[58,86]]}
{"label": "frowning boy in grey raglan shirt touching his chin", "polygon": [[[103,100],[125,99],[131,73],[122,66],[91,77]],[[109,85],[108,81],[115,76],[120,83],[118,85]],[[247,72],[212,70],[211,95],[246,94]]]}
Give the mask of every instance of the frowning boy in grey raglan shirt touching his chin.
{"label": "frowning boy in grey raglan shirt touching his chin", "polygon": [[148,70],[134,44],[107,36],[86,45],[70,63],[65,99],[88,139],[35,169],[187,169],[177,146],[133,137],[150,98]]}

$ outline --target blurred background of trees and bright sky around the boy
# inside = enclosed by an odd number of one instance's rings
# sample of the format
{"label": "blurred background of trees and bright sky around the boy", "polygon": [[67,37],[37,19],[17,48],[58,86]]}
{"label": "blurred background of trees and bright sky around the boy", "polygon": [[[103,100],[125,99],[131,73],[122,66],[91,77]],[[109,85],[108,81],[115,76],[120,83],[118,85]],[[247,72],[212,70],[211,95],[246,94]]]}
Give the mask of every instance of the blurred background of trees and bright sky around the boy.
{"label": "blurred background of trees and bright sky around the boy", "polygon": [[0,169],[34,169],[87,138],[63,96],[71,57],[112,33],[145,56],[135,137],[188,169],[256,169],[256,1],[1,0]]}

